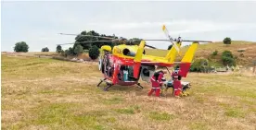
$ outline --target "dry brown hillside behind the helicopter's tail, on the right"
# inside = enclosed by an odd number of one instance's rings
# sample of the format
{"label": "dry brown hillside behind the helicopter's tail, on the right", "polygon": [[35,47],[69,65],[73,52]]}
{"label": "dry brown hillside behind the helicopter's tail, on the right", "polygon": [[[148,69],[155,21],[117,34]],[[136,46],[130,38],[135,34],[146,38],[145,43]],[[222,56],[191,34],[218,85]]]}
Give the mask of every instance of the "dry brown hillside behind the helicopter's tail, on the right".
{"label": "dry brown hillside behind the helicopter's tail, on the right", "polygon": [[[186,53],[188,46],[182,47],[182,54]],[[211,56],[211,53],[218,51],[216,56]],[[196,58],[203,57],[209,58],[213,62],[221,64],[221,54],[224,50],[231,51],[235,56],[237,56],[238,65],[252,65],[252,62],[256,61],[256,42],[251,41],[232,41],[230,45],[225,45],[222,41],[200,44],[196,52]],[[237,50],[245,50],[245,52],[237,52]],[[165,56],[167,50],[152,50],[147,49],[147,54]],[[177,60],[181,59],[178,57]]]}

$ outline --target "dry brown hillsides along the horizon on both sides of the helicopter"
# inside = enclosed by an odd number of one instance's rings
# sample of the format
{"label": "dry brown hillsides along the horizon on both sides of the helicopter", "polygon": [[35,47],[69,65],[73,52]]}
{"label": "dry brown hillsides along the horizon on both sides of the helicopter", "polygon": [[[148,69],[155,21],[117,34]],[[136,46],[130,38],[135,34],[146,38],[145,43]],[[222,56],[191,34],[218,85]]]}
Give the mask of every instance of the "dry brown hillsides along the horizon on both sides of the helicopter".
{"label": "dry brown hillsides along the horizon on both sides of the helicopter", "polygon": [[[183,55],[186,53],[188,46],[182,47],[182,56],[178,56],[176,61],[180,61]],[[211,53],[214,51],[218,51],[218,54],[212,56]],[[208,58],[213,63],[217,63],[217,65],[222,65],[221,55],[224,50],[231,51],[235,56],[237,56],[237,65],[245,65],[245,66],[252,66],[253,61],[256,61],[256,42],[251,41],[232,41],[232,44],[225,45],[222,41],[213,42],[213,43],[204,43],[199,44],[198,50],[196,52],[196,58],[203,57]],[[237,50],[244,50],[244,52],[238,52]],[[147,54],[157,55],[157,56],[165,56],[168,53],[167,50],[160,50],[160,49],[146,49]],[[38,53],[5,53],[13,56],[26,56],[26,57],[33,57],[33,56],[41,56],[41,57],[50,57],[57,55],[54,52],[38,52]],[[70,58],[74,56],[69,56]],[[78,56],[79,59],[83,60],[90,60],[88,53],[83,53]]]}

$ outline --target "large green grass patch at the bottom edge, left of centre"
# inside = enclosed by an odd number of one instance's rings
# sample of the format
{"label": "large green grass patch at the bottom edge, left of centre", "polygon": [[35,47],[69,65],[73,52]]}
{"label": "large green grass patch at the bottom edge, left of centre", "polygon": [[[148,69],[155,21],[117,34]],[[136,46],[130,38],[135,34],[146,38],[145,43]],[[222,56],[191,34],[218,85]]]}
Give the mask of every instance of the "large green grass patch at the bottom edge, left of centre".
{"label": "large green grass patch at the bottom edge, left of centre", "polygon": [[107,112],[93,111],[75,114],[74,110],[72,110],[72,108],[75,107],[79,107],[79,105],[73,103],[55,103],[43,106],[37,110],[38,117],[33,120],[32,124],[43,124],[54,129],[58,129],[59,126],[73,128],[73,125],[78,125],[79,129],[105,129],[103,125],[98,123],[98,120],[101,119],[102,116],[106,115]]}

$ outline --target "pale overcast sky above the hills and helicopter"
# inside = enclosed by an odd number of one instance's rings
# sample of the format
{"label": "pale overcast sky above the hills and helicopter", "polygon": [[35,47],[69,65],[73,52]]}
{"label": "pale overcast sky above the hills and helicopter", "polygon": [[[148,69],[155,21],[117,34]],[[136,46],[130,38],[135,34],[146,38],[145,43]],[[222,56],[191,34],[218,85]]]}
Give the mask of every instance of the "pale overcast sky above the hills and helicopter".
{"label": "pale overcast sky above the hills and helicopter", "polygon": [[[100,34],[142,39],[166,39],[166,25],[173,37],[185,40],[256,41],[256,2],[1,2],[1,51],[13,52],[26,41],[30,52],[45,46],[73,42],[74,36],[96,30]],[[168,42],[147,42],[166,49]],[[188,44],[186,42],[186,44]],[[64,47],[64,46],[63,46]],[[64,48],[68,48],[66,46]]]}

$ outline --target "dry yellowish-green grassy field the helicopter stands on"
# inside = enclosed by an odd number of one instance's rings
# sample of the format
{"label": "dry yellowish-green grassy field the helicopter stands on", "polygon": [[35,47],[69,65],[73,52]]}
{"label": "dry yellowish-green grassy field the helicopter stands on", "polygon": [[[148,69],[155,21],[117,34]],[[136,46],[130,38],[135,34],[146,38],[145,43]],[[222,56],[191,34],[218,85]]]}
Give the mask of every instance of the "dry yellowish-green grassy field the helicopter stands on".
{"label": "dry yellowish-green grassy field the helicopter stands on", "polygon": [[2,54],[1,69],[2,129],[256,129],[256,77],[189,74],[190,96],[156,99],[96,88],[94,64]]}

